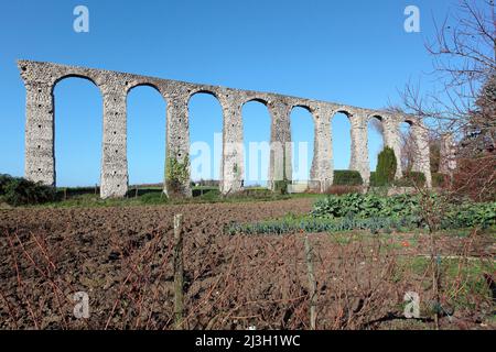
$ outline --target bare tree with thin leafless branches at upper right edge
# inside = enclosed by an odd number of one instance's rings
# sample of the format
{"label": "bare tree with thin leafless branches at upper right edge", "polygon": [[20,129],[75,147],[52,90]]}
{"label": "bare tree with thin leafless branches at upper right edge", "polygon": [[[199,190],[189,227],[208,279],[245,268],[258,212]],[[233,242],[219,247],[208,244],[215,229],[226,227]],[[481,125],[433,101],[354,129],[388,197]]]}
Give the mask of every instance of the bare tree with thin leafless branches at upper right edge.
{"label": "bare tree with thin leafless branches at upper right edge", "polygon": [[[401,110],[424,120],[439,136],[457,141],[457,168],[478,172],[479,191],[495,194],[496,179],[496,18],[494,0],[462,0],[457,11],[435,24],[434,38],[425,44],[433,57],[435,87],[423,92],[409,82],[400,91]],[[456,190],[471,189],[471,175],[459,175]],[[453,185],[453,184],[452,184]]]}

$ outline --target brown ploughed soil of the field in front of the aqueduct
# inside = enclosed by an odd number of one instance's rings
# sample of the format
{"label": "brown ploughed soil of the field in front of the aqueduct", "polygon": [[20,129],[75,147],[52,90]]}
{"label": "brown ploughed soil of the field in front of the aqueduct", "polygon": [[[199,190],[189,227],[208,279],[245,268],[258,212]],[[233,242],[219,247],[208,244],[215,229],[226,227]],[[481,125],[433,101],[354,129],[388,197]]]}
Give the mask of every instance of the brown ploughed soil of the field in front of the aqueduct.
{"label": "brown ploughed soil of the field in front of the aqueduct", "polygon": [[[0,329],[173,328],[176,213],[184,216],[181,328],[308,329],[304,235],[230,237],[223,229],[231,221],[305,213],[312,202],[0,210]],[[399,256],[428,253],[427,239],[421,237],[413,249],[405,244],[412,237],[392,238],[400,245],[381,255],[380,241],[343,245],[328,234],[311,237],[317,328],[380,328],[401,314],[406,290],[429,292],[422,277],[398,272]],[[443,241],[445,254],[463,254],[462,241]],[[471,255],[488,248],[479,241]],[[88,319],[73,315],[76,292],[89,296]],[[478,316],[457,314],[452,328],[481,322]]]}

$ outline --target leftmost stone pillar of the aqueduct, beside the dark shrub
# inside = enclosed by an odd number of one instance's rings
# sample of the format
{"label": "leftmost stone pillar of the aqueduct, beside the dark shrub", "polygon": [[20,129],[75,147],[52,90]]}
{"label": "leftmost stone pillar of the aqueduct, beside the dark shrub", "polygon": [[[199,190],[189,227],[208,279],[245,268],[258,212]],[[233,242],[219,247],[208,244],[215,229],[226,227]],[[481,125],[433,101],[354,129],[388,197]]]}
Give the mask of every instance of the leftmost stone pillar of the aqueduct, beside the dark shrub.
{"label": "leftmost stone pillar of the aqueduct, beside the dark shrub", "polygon": [[25,81],[25,178],[55,186],[53,86]]}

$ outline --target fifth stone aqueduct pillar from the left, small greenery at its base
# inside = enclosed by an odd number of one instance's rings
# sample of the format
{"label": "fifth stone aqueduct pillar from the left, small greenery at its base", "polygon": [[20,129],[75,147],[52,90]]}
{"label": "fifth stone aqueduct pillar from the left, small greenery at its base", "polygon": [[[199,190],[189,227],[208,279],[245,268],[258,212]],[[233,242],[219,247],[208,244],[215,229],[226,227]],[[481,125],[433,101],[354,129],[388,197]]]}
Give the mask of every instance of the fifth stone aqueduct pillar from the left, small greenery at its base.
{"label": "fifth stone aqueduct pillar from the left, small greenery at its base", "polygon": [[276,101],[268,109],[271,117],[268,187],[274,190],[277,182],[292,179],[291,108]]}

